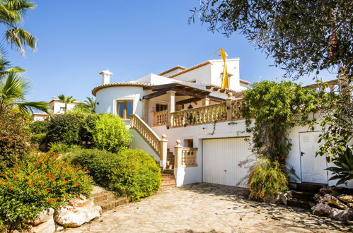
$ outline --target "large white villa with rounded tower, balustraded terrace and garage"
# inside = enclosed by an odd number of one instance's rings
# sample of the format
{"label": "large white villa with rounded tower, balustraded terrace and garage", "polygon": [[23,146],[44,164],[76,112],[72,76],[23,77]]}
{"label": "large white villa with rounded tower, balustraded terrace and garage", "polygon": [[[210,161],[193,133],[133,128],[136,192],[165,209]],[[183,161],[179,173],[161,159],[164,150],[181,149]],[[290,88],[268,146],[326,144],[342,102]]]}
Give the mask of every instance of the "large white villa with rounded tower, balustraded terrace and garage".
{"label": "large white villa with rounded tower, balustraded terrace and garage", "polygon": [[[221,89],[224,61],[209,60],[186,68],[175,66],[126,83],[110,83],[102,71],[102,84],[93,88],[96,112],[119,115],[131,129],[131,148],[155,157],[163,172],[175,174],[177,186],[197,182],[245,186],[246,166],[255,157],[245,138],[243,90],[239,59],[228,59],[229,88]],[[330,83],[335,85],[335,82]],[[320,126],[314,131],[296,126],[290,131],[292,148],[287,165],[295,182],[335,185],[325,157],[316,157]],[[349,186],[353,186],[352,183]]]}

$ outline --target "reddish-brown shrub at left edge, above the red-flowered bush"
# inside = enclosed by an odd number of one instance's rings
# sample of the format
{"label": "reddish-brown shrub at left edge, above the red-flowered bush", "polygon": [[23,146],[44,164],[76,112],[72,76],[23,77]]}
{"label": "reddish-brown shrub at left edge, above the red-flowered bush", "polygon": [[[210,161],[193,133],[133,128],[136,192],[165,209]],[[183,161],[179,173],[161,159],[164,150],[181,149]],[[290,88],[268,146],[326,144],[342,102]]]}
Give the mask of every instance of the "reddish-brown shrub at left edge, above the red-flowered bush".
{"label": "reddish-brown shrub at left edge, above the red-flowered bush", "polygon": [[0,112],[0,171],[23,159],[31,150],[28,123],[23,114]]}

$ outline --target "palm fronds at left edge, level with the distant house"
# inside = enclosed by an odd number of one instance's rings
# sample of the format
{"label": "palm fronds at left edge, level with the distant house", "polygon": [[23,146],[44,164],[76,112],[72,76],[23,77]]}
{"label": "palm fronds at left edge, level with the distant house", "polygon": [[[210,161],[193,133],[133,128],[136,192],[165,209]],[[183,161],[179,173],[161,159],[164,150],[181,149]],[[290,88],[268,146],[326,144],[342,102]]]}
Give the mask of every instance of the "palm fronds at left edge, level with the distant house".
{"label": "palm fronds at left edge, level with the distant house", "polygon": [[16,72],[1,73],[0,79],[0,111],[17,107],[21,112],[28,113],[40,110],[48,113],[47,102],[25,102],[25,95],[30,85],[27,79]]}

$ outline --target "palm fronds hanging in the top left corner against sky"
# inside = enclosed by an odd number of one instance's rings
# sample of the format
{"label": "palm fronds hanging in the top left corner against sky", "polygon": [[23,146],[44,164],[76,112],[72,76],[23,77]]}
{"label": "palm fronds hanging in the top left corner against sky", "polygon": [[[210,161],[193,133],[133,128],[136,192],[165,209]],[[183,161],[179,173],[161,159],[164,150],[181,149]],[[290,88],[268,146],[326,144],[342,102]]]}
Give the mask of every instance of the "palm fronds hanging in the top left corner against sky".
{"label": "palm fronds hanging in the top left corner against sky", "polygon": [[35,4],[28,0],[1,0],[0,24],[6,28],[5,37],[11,47],[18,49],[25,56],[25,45],[35,50],[37,39],[30,32],[18,25],[23,23],[23,16],[29,10],[35,8]]}

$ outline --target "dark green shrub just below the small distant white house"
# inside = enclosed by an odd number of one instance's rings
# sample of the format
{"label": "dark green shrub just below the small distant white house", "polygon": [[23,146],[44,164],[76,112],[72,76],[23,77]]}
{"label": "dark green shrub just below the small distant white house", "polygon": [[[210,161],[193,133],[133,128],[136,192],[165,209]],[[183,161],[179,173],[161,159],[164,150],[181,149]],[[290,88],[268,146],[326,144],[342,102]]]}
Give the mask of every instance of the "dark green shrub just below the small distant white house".
{"label": "dark green shrub just below the small distant white house", "polygon": [[73,114],[57,114],[49,121],[48,143],[79,143],[80,120]]}

